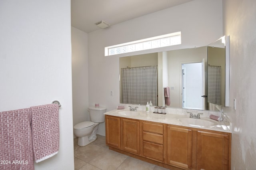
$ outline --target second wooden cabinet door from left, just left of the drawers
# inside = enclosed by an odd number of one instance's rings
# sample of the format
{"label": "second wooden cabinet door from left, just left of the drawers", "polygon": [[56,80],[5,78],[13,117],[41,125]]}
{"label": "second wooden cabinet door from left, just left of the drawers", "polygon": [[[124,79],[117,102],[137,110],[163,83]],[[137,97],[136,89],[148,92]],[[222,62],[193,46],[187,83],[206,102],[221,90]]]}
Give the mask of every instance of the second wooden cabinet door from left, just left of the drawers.
{"label": "second wooden cabinet door from left, just left of the drawers", "polygon": [[122,139],[123,150],[140,154],[140,122],[122,119]]}

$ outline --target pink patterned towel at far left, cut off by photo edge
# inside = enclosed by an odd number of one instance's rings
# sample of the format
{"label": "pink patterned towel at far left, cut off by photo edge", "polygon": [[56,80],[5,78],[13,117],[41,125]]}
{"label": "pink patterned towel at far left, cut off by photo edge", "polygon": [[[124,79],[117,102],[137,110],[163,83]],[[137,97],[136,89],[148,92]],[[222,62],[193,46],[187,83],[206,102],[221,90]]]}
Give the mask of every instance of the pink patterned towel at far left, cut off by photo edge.
{"label": "pink patterned towel at far left, cut off by photo edge", "polygon": [[0,169],[34,170],[29,109],[0,112]]}

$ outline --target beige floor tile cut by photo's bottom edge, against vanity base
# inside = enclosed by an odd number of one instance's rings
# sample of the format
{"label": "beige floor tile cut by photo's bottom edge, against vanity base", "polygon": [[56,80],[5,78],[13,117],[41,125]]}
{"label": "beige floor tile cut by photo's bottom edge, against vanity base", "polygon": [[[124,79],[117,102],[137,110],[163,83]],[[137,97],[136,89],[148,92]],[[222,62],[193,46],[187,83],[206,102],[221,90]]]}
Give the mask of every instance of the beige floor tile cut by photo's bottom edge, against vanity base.
{"label": "beige floor tile cut by photo's bottom edge, against vanity base", "polygon": [[117,170],[154,170],[155,165],[128,157]]}

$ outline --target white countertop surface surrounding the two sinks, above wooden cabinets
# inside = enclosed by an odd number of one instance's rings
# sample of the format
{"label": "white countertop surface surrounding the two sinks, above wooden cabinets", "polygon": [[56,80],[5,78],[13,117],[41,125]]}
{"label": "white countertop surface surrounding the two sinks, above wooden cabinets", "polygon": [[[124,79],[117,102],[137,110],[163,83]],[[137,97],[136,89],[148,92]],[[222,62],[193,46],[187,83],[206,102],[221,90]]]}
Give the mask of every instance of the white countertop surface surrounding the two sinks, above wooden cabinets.
{"label": "white countertop surface surrounding the two sinks, above wooden cabinets", "polygon": [[[192,127],[192,128],[201,128],[201,129],[207,129],[207,130],[215,130],[215,131],[221,131],[221,132],[229,132],[230,127],[229,127],[229,122],[228,121],[215,121],[212,119],[209,119],[207,117],[202,117],[201,120],[207,120],[216,123],[216,125],[213,126],[196,126],[196,125],[189,125],[187,123],[182,123],[180,120],[184,120],[184,118],[189,118],[188,115],[182,115],[182,114],[172,114],[172,113],[166,113],[166,114],[158,114],[158,113],[152,113],[152,112],[146,112],[146,111],[137,111],[133,116],[125,116],[125,115],[120,115],[118,112],[120,111],[129,111],[127,109],[124,110],[118,110],[114,109],[112,111],[108,111],[104,113],[104,115],[110,115],[110,116],[116,116],[116,117],[125,117],[129,119],[138,119],[138,120],[143,120],[143,121],[151,121],[151,122],[158,122],[158,123],[166,123],[170,125],[178,125],[178,126],[184,126],[184,127]],[[190,121],[189,118],[187,119]],[[200,121],[200,119],[198,120]]]}

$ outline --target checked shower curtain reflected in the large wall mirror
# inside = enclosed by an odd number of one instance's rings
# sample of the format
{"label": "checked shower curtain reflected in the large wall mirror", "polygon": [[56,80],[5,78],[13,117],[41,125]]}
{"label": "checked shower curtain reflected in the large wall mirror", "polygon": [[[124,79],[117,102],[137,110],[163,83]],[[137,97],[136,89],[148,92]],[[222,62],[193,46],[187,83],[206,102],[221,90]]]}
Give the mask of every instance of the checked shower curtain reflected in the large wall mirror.
{"label": "checked shower curtain reflected in the large wall mirror", "polygon": [[122,69],[123,103],[157,105],[157,66]]}

